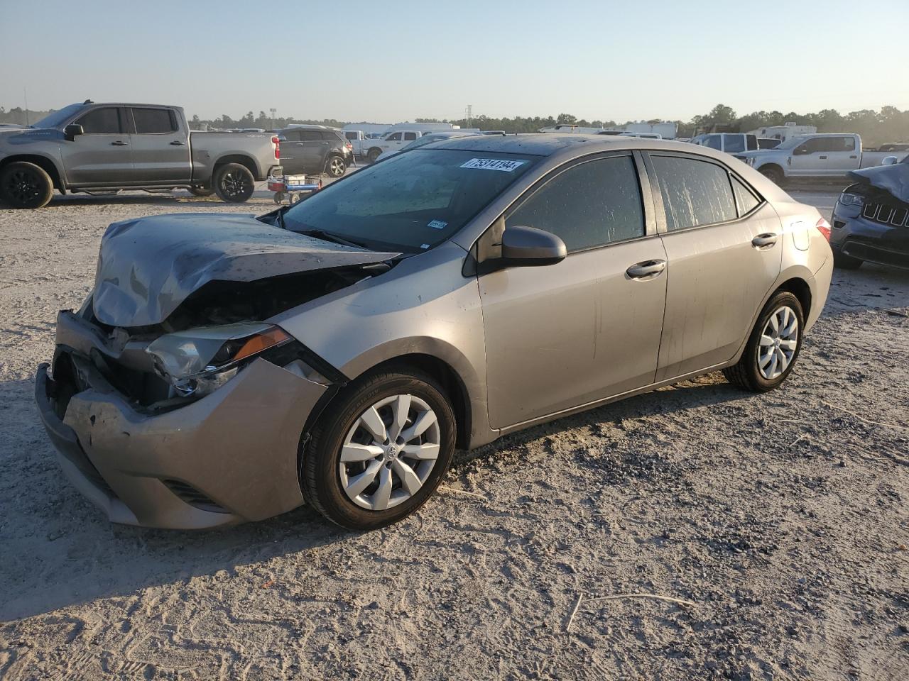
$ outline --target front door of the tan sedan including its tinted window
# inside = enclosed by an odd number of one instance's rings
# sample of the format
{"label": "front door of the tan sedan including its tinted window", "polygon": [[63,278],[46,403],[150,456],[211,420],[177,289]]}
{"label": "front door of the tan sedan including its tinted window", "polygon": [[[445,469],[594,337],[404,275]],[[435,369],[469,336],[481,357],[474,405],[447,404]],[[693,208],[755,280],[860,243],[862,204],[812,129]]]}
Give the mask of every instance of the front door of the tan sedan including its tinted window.
{"label": "front door of the tan sedan including its tinted window", "polygon": [[[505,230],[553,232],[568,256],[479,277],[494,428],[654,380],[665,254],[655,222],[645,220],[639,180],[630,153],[587,158],[550,173],[505,212]],[[487,237],[500,242],[501,231]]]}

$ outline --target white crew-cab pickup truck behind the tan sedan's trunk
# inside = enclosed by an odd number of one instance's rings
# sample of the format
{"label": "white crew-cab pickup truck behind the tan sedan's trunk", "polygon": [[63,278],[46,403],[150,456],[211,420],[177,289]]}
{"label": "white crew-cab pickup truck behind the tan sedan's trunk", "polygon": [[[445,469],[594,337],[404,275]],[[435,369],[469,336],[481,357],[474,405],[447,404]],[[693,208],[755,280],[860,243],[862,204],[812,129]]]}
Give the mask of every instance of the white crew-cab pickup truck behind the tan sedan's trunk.
{"label": "white crew-cab pickup truck behind the tan sedan's trunk", "polygon": [[[880,165],[894,153],[863,152],[862,138],[854,133],[816,133],[793,137],[774,149],[733,155],[774,183],[783,184],[845,181],[850,171]],[[895,155],[902,160],[906,153]]]}

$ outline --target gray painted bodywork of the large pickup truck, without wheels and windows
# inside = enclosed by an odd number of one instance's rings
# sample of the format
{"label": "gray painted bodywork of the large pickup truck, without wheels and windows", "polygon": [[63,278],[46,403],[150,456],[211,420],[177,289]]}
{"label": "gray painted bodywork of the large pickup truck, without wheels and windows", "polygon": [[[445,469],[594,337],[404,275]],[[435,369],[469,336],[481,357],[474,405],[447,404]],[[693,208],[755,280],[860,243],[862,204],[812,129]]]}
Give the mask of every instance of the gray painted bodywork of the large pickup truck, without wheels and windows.
{"label": "gray painted bodywork of the large pickup truck, without wheels and windows", "polygon": [[[167,109],[175,112],[178,129],[175,133],[142,134],[149,144],[143,145],[138,160],[131,159],[132,149],[129,140],[135,133],[86,134],[76,136],[74,141],[65,139],[65,126],[74,123],[87,112],[105,107],[139,107]],[[111,152],[106,139],[93,152],[91,149],[80,149],[92,141],[92,138],[111,138],[113,141],[125,141],[126,144]],[[79,141],[82,139],[82,144]],[[115,139],[116,138],[116,139]],[[69,116],[65,122],[54,128],[12,128],[0,129],[0,165],[18,160],[34,161],[44,159],[55,170],[55,185],[61,190],[75,189],[129,189],[144,187],[194,186],[209,183],[215,165],[245,160],[254,170],[256,180],[265,180],[271,168],[280,164],[275,159],[275,147],[269,133],[198,133],[190,132],[185,114],[181,107],[162,104],[131,103],[97,103],[85,104],[80,110]],[[163,173],[160,163],[148,156],[155,150],[155,140],[161,153],[175,153],[181,149],[185,160],[174,168],[171,174]],[[171,143],[183,143],[175,147]],[[136,153],[140,153],[139,145]],[[121,153],[123,161],[111,164],[106,157],[110,153]],[[80,168],[92,168],[91,178],[74,178],[71,172],[72,161],[79,158]],[[107,171],[105,165],[109,165]],[[126,171],[126,172],[124,172]]]}

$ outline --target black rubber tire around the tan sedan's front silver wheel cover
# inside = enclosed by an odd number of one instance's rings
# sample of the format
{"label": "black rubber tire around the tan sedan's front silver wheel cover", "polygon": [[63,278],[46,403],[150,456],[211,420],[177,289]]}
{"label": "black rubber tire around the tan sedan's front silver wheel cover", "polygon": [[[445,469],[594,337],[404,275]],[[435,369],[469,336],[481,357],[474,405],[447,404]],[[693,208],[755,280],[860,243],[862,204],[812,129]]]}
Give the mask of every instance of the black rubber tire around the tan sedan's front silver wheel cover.
{"label": "black rubber tire around the tan sedan's front silver wheel cover", "polygon": [[[435,412],[440,440],[438,457],[422,487],[413,496],[385,510],[362,508],[347,496],[342,487],[341,449],[347,433],[355,427],[360,416],[376,402],[395,395],[410,395],[423,400]],[[389,417],[383,415],[383,418]],[[347,386],[321,415],[310,434],[301,467],[301,488],[306,500],[325,518],[343,528],[383,528],[423,506],[445,477],[454,454],[454,410],[445,392],[431,376],[404,367],[391,368],[368,374]],[[369,463],[361,463],[365,468],[372,463],[372,459]],[[378,470],[381,473],[382,466],[390,465],[380,463]],[[379,476],[380,473],[374,475]],[[400,479],[397,481],[400,483]]]}

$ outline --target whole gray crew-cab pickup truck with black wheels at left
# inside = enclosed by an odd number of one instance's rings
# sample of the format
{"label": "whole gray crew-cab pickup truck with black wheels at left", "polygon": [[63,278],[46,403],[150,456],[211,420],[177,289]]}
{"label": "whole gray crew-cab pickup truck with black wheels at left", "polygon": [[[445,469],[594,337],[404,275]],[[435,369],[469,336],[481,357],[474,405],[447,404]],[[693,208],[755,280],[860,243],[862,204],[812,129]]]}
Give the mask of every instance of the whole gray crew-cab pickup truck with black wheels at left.
{"label": "whole gray crew-cab pickup truck with black wheels at left", "polygon": [[41,208],[54,190],[107,193],[184,187],[245,202],[279,163],[268,133],[190,132],[183,109],[70,104],[26,128],[0,128],[0,201]]}

